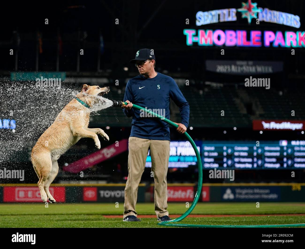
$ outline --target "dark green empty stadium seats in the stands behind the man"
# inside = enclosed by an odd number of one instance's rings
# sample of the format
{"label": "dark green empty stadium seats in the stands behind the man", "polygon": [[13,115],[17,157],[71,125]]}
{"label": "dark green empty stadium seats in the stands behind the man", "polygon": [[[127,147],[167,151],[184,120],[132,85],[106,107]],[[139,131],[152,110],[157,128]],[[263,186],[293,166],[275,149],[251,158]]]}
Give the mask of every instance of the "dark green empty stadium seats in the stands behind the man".
{"label": "dark green empty stadium seats in the stands behind the man", "polygon": [[[303,91],[279,92],[274,89],[242,85],[201,88],[182,86],[180,89],[190,105],[189,126],[193,127],[251,127],[253,119],[305,119],[305,112],[302,110]],[[242,93],[247,101],[242,97]],[[112,89],[107,98],[123,100],[124,90]],[[247,113],[247,103],[252,106],[253,113]],[[174,122],[181,121],[177,110],[173,106],[170,107],[170,119]],[[291,116],[292,110],[295,111],[295,116]],[[221,115],[222,111],[224,115]],[[130,119],[120,108],[107,108],[93,115],[91,124],[131,126]]]}

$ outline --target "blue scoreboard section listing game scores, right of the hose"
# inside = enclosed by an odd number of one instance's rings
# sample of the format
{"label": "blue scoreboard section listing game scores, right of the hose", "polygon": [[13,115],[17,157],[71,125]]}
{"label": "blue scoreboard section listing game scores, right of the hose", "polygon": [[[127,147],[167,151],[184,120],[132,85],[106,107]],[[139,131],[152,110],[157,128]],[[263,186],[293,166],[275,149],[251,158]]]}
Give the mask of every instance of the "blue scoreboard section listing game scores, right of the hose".
{"label": "blue scoreboard section listing game scores, right of the hose", "polygon": [[203,141],[203,169],[305,168],[305,141]]}

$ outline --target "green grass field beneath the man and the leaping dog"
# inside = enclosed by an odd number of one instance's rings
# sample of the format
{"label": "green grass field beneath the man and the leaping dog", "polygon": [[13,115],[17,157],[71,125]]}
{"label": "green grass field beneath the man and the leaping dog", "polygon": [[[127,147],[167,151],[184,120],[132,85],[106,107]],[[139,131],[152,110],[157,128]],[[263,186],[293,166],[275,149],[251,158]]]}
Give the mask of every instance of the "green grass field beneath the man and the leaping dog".
{"label": "green grass field beneath the man and the leaping dog", "polygon": [[[191,203],[189,204],[191,205]],[[13,203],[0,204],[0,227],[159,227],[157,218],[141,218],[141,222],[123,222],[124,203]],[[154,203],[138,203],[138,215],[155,215]],[[169,215],[183,214],[185,203],[168,203]],[[305,223],[305,203],[198,203],[191,214],[304,214],[292,216],[252,217],[188,217],[179,223],[204,225],[275,225]],[[121,215],[106,218],[104,215]]]}

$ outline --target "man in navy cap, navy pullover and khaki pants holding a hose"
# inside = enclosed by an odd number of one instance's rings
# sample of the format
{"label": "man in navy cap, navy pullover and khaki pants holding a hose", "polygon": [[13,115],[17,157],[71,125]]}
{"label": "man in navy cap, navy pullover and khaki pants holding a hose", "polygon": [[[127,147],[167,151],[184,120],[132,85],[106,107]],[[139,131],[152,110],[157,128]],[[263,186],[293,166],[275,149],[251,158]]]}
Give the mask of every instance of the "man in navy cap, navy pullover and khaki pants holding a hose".
{"label": "man in navy cap, navy pullover and khaki pants holding a hose", "polygon": [[157,117],[147,117],[144,110],[132,108],[132,103],[159,110],[162,116],[169,119],[171,98],[179,106],[181,123],[178,123],[177,131],[181,134],[185,133],[188,126],[189,105],[174,79],[155,71],[156,58],[153,50],[138,50],[135,59],[130,62],[135,63],[140,75],[127,82],[124,95],[124,101],[128,104],[123,104],[123,111],[127,117],[132,116],[132,127],[128,140],[128,178],[123,221],[141,221],[137,218],[135,205],[148,150],[155,180],[155,212],[158,221],[169,221],[166,179],[170,155],[169,126]]}

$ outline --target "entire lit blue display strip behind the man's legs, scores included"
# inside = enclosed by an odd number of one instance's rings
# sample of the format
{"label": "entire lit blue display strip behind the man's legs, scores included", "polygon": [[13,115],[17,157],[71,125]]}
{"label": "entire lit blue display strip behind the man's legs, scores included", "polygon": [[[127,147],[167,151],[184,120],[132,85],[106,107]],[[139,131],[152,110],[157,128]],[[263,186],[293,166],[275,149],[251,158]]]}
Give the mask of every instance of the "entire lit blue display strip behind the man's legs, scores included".
{"label": "entire lit blue display strip behind the man's legs, scores included", "polygon": [[[305,169],[305,140],[194,141],[203,169]],[[151,167],[150,153],[145,167]],[[197,167],[188,141],[170,142],[168,167]]]}

